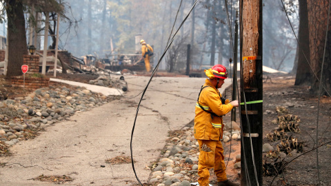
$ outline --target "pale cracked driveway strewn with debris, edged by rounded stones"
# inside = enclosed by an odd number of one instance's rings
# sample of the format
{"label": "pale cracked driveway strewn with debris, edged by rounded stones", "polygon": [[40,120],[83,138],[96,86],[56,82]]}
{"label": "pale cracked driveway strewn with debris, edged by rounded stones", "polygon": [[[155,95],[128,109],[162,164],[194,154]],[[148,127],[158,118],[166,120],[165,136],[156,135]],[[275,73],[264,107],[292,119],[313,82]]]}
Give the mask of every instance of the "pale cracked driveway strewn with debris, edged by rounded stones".
{"label": "pale cracked driveway strewn with debris, edged by rounded stones", "polygon": [[[70,176],[63,185],[132,185],[137,183],[130,163],[110,165],[106,159],[130,156],[130,135],[137,103],[148,77],[126,76],[126,98],[56,123],[29,141],[11,147],[13,155],[0,157],[0,185],[50,185],[37,176]],[[155,78],[139,109],[133,138],[134,167],[142,182],[165,144],[169,130],[178,130],[194,118],[194,103],[204,79]],[[102,166],[101,166],[102,165]],[[103,166],[104,165],[104,166]]]}

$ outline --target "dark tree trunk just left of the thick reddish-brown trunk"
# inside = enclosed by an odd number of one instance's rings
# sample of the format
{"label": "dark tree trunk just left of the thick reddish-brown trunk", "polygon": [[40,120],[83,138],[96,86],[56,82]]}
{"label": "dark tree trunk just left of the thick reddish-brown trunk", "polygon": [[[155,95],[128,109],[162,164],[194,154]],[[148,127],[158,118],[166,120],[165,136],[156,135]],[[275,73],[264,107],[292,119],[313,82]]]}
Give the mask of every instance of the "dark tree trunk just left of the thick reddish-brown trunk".
{"label": "dark tree trunk just left of the thick reddish-brown trunk", "polygon": [[[307,62],[310,62],[309,48],[309,30],[308,30],[308,14],[307,0],[299,1],[299,43],[297,46],[297,62],[294,62],[292,72],[297,72],[294,85],[310,85],[312,81],[312,70]],[[304,53],[304,54],[303,54]],[[307,59],[305,59],[307,57]],[[297,65],[296,65],[297,63]],[[297,67],[296,67],[297,66]],[[295,68],[295,69],[294,69]]]}

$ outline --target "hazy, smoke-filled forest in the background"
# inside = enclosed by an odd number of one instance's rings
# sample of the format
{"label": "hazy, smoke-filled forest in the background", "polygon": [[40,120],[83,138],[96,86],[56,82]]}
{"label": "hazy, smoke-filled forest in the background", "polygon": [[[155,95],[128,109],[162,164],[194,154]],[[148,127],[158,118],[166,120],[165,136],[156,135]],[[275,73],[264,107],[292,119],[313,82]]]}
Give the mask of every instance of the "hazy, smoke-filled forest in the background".
{"label": "hazy, smoke-filled forest in the background", "polygon": [[[174,32],[186,17],[194,0],[67,0],[69,21],[60,23],[60,50],[73,56],[87,54],[107,58],[110,54],[134,54],[135,37],[154,46],[154,63],[165,50],[172,25]],[[228,1],[229,19],[234,39],[234,20],[237,1]],[[296,6],[292,7],[295,11]],[[170,59],[174,71],[185,69],[187,45],[191,44],[192,68],[220,63],[229,65],[232,56],[230,33],[224,1],[201,0],[190,14],[163,59],[160,69],[169,70]],[[192,27],[194,17],[194,28]],[[239,18],[238,18],[239,19]],[[290,16],[294,31],[299,23],[296,12]],[[192,29],[194,32],[192,32]],[[28,33],[28,31],[27,31]],[[6,23],[0,25],[6,37]],[[192,37],[193,36],[193,37]],[[214,41],[214,42],[213,42]],[[50,44],[49,38],[49,44]],[[37,48],[43,48],[43,41]],[[294,63],[297,41],[279,1],[263,1],[263,65],[290,72]],[[106,56],[108,55],[108,56]]]}

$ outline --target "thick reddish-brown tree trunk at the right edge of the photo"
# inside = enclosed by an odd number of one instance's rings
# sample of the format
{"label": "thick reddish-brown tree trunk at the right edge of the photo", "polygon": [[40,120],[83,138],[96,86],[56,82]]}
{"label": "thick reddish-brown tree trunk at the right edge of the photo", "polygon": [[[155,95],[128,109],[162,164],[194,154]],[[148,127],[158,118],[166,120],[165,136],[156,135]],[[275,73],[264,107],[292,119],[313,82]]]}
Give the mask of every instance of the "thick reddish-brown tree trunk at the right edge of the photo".
{"label": "thick reddish-brown tree trunk at the right edge of the photo", "polygon": [[[319,93],[319,81],[321,78],[321,68],[323,62],[323,52],[325,43],[325,34],[328,34],[328,42],[325,48],[325,63],[323,66],[322,85],[325,86],[326,90],[331,92],[331,26],[328,22],[328,0],[308,0],[308,21],[309,21],[309,41],[310,41],[310,63],[312,70],[317,74],[317,77],[312,78],[312,89],[313,94]],[[316,13],[318,12],[318,13]],[[327,24],[329,30],[326,30]],[[328,31],[328,32],[327,32]],[[322,94],[326,94],[325,90]]]}

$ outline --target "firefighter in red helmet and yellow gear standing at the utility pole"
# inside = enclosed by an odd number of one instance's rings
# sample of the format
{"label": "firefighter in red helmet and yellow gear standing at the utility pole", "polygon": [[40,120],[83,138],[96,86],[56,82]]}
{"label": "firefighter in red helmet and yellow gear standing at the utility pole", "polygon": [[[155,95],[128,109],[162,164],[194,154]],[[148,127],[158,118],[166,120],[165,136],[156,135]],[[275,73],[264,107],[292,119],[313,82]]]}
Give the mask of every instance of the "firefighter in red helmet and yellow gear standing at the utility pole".
{"label": "firefighter in red helmet and yellow gear standing at the utility pole", "polygon": [[[223,138],[222,116],[238,107],[238,101],[221,100],[219,88],[224,79],[228,77],[228,70],[223,65],[214,65],[205,70],[208,79],[201,87],[198,101],[195,107],[194,138],[199,143],[199,185],[209,185],[209,169],[214,168],[217,176],[217,185],[239,185],[228,180],[225,174],[224,149],[221,143]],[[223,103],[222,103],[223,102]]]}

